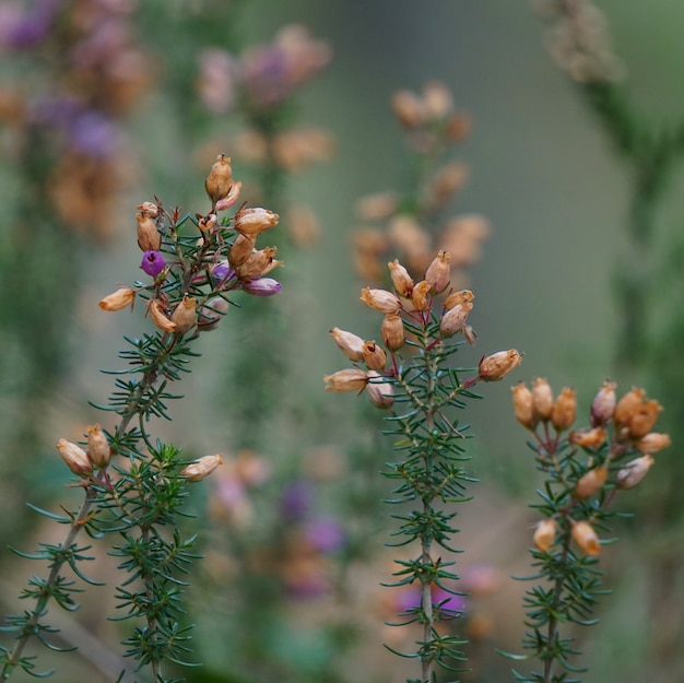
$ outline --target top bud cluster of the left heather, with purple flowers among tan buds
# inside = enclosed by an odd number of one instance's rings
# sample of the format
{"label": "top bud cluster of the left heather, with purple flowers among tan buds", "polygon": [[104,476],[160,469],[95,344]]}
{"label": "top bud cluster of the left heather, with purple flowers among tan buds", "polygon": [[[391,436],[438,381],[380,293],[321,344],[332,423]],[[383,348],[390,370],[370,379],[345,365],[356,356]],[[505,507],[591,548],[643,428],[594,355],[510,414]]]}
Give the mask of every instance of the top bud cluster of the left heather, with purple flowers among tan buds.
{"label": "top bud cluster of the left heather, with purple flowers among tan buds", "polygon": [[178,210],[168,213],[157,203],[140,204],[135,215],[143,251],[140,267],[152,283],[121,287],[102,299],[99,307],[132,308],[135,297],[142,296],[160,330],[185,334],[214,329],[228,309],[229,292],[278,294],[280,283],[267,276],[282,266],[275,259],[276,248],[256,247],[257,236],[278,224],[278,214],[243,205],[233,219],[219,221],[221,211],[236,204],[240,188],[241,182],[233,179],[229,157],[220,154],[205,180],[211,209],[196,215],[199,238],[189,243],[181,238]]}

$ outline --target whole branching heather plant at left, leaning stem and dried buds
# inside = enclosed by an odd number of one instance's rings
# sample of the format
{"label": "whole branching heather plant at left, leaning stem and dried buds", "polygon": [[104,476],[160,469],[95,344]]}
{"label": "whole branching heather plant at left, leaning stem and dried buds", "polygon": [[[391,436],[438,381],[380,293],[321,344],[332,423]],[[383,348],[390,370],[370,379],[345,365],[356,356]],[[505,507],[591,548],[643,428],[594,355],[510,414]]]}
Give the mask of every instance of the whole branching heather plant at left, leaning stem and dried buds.
{"label": "whole branching heather plant at left, leaning stem and dried buds", "polygon": [[[268,273],[280,264],[275,248],[257,249],[256,242],[278,223],[278,215],[243,204],[241,184],[233,179],[231,161],[219,155],[207,177],[210,207],[204,213],[181,216],[161,201],[140,204],[137,239],[144,280],[120,286],[99,302],[103,311],[138,305],[154,331],[126,337],[119,356],[123,369],[113,370],[115,388],[107,402],[93,405],[107,424],[92,425],[79,443],[59,439],[57,450],[82,490],[78,509],[56,514],[34,508],[67,528],[60,543],[40,543],[22,557],[47,564],[44,577],[34,575],[21,598],[28,607],[5,617],[4,632],[14,636],[3,646],[1,675],[23,670],[40,675],[34,657],[25,653],[31,640],[50,649],[55,628],[48,622],[54,605],[75,610],[80,581],[95,584],[86,563],[93,560],[83,537],[105,539],[119,562],[121,578],[114,587],[117,614],[128,625],[123,657],[154,681],[172,681],[165,664],[189,663],[192,625],[185,616],[182,596],[199,554],[197,538],[184,531],[184,506],[189,486],[210,475],[222,455],[188,459],[173,444],[154,438],[155,419],[170,420],[168,404],[180,396],[172,386],[190,372],[198,355],[198,338],[222,323],[243,295],[278,294],[280,283]],[[223,215],[223,217],[221,217]],[[239,315],[239,314],[238,314]],[[103,419],[103,422],[105,420]],[[122,667],[121,680],[126,668]]]}

